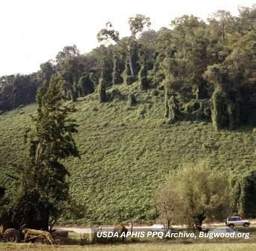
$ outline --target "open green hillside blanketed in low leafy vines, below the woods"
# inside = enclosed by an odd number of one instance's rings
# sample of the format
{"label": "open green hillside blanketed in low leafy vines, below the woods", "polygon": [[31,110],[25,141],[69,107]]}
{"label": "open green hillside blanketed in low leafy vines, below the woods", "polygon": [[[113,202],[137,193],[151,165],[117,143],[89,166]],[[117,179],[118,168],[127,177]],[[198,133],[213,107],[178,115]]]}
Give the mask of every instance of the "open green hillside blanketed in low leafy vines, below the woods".
{"label": "open green hillside blanketed in low leafy vines, below the woods", "polygon": [[[70,171],[71,195],[83,205],[80,222],[150,220],[155,215],[155,188],[180,163],[207,159],[213,166],[242,172],[256,163],[256,132],[212,129],[211,124],[164,123],[164,93],[139,91],[136,84],[118,85],[121,96],[99,104],[95,94],[78,100],[74,115],[81,159],[65,163]],[[127,103],[136,93],[137,105]],[[11,164],[26,151],[24,128],[36,105],[0,116],[0,184],[8,186]]]}

